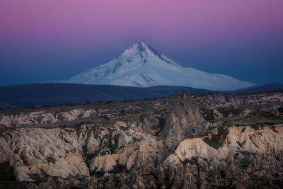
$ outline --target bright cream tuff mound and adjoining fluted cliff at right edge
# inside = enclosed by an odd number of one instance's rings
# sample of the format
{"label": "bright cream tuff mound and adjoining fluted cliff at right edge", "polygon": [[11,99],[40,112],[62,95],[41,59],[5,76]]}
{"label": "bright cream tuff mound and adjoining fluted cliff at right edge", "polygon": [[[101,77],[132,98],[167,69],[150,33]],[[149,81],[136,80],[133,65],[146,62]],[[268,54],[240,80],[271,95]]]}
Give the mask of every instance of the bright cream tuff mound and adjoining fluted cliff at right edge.
{"label": "bright cream tuff mound and adjoining fluted cliff at right edge", "polygon": [[[241,144],[241,145],[239,145]],[[247,151],[257,154],[277,154],[283,149],[282,125],[275,127],[275,131],[269,127],[262,130],[254,130],[252,127],[230,127],[229,134],[222,147],[214,149],[204,142],[202,138],[185,139],[180,142],[175,150],[175,156],[180,161],[190,160],[192,157],[202,159],[226,159],[232,157],[238,151]],[[168,160],[173,164],[175,156],[171,155]]]}

